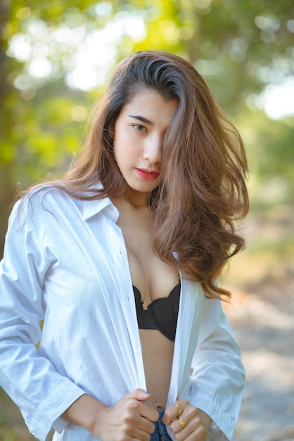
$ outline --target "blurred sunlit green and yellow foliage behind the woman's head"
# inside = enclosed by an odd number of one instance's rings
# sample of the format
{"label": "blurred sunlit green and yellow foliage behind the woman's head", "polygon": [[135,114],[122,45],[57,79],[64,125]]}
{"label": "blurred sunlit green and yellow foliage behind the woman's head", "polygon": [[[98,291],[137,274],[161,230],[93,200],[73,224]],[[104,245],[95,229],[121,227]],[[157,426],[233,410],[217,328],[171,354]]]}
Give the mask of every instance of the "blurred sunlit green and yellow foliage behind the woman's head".
{"label": "blurred sunlit green and yellow foliage behind the woman's head", "polygon": [[[293,117],[270,120],[258,104],[293,75],[293,18],[288,0],[2,0],[1,244],[15,192],[67,168],[110,68],[140,49],[179,54],[205,77],[245,139],[257,201],[293,197]],[[94,70],[82,58],[91,39]]]}

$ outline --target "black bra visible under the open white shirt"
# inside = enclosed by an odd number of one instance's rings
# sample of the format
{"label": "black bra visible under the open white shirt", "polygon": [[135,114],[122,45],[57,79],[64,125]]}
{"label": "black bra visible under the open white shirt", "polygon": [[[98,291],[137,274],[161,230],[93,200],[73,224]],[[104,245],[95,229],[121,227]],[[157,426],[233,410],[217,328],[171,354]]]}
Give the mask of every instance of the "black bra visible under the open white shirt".
{"label": "black bra visible under the open white shirt", "polygon": [[139,329],[158,329],[160,333],[174,342],[179,313],[181,284],[176,285],[168,297],[153,300],[151,304],[148,304],[148,309],[143,309],[141,292],[138,288],[133,286],[133,290]]}

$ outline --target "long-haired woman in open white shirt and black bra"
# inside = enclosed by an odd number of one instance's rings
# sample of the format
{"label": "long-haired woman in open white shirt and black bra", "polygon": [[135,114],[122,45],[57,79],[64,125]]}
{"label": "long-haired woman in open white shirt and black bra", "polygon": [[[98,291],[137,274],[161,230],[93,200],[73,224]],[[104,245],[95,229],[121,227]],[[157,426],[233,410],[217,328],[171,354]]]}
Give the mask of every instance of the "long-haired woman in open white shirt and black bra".
{"label": "long-haired woman in open white shirt and black bra", "polygon": [[35,437],[231,439],[243,366],[217,280],[243,247],[246,170],[190,63],[117,66],[77,161],[9,222],[1,386]]}

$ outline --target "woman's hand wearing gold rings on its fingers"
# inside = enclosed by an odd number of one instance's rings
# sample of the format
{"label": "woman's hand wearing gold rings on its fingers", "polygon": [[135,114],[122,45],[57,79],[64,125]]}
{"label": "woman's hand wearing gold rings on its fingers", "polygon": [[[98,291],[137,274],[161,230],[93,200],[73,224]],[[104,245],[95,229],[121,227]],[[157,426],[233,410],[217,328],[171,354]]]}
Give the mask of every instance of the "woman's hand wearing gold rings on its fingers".
{"label": "woman's hand wearing gold rings on its fingers", "polygon": [[[176,405],[177,404],[177,405]],[[206,441],[212,419],[205,412],[192,406],[186,399],[179,399],[165,409],[162,423],[170,426],[178,441]]]}

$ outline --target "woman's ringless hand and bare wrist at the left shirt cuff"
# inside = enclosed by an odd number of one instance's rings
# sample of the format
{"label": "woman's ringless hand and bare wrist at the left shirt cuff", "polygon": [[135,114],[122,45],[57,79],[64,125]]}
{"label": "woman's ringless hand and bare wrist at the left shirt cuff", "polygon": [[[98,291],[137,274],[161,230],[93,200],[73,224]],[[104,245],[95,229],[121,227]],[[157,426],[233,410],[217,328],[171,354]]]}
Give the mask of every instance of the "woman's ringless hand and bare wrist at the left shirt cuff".
{"label": "woman's ringless hand and bare wrist at the left shirt cuff", "polygon": [[89,395],[82,395],[63,417],[102,441],[149,441],[155,429],[153,422],[159,417],[158,411],[146,404],[150,398],[150,394],[136,389],[109,407]]}

